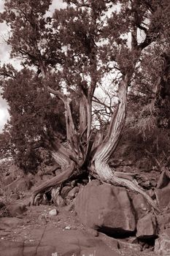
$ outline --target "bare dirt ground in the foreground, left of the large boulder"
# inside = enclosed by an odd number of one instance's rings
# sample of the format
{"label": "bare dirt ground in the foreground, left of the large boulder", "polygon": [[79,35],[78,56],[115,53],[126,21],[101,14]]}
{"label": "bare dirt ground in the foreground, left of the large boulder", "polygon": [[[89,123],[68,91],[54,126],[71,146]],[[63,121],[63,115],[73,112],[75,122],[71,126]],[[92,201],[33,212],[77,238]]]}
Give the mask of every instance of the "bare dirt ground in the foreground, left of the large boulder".
{"label": "bare dirt ground in the foreground, left of the large boulder", "polygon": [[[20,201],[22,203],[22,201]],[[57,210],[56,216],[50,216],[49,212]],[[1,220],[3,218],[0,218]],[[55,244],[56,253],[51,251],[43,254],[45,256],[153,256],[155,252],[146,249],[139,252],[135,244],[133,248],[127,243],[127,238],[117,243],[115,238],[110,238],[105,234],[98,233],[96,230],[90,230],[84,227],[74,211],[72,206],[55,207],[53,205],[27,206],[27,211],[18,215],[20,220],[17,226],[6,228],[1,225],[0,220],[0,246],[2,248],[5,241],[11,241],[12,244],[24,243],[33,246],[40,243],[46,245]],[[7,245],[6,245],[7,247]],[[6,248],[5,247],[5,248]],[[9,251],[9,249],[8,249]],[[1,256],[13,256],[12,246],[11,254],[7,255],[4,250]],[[106,253],[105,253],[106,252]],[[45,252],[44,252],[45,253]],[[14,254],[15,255],[15,254]],[[28,256],[32,256],[34,254]],[[39,254],[38,254],[39,255]],[[24,255],[25,256],[25,255]]]}

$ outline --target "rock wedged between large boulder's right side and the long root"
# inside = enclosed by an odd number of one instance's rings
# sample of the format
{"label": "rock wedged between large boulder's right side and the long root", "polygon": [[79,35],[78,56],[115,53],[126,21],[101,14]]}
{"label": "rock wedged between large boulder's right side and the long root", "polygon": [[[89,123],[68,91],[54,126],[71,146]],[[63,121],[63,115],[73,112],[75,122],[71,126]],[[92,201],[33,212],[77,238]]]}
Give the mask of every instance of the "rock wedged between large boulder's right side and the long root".
{"label": "rock wedged between large boulder's right side and the long root", "polygon": [[136,213],[136,219],[141,219],[150,211],[150,206],[141,194],[134,195],[132,203]]}

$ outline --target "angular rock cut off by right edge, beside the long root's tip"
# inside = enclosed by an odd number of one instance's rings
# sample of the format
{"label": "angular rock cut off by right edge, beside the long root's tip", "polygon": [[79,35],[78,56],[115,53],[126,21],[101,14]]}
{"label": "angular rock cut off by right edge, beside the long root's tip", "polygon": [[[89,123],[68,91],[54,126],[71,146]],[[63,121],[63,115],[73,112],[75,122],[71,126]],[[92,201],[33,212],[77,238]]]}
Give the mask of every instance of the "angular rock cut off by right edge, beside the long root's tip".
{"label": "angular rock cut off by right edge, beside the long root's tip", "polygon": [[163,189],[155,189],[155,195],[159,208],[166,208],[170,203],[170,186]]}

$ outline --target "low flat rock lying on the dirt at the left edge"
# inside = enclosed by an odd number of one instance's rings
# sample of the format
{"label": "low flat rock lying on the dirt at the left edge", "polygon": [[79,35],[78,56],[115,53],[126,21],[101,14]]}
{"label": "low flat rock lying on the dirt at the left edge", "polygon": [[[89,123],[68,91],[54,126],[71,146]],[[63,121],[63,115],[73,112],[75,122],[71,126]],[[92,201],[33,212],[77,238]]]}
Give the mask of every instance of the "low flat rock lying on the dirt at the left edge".
{"label": "low flat rock lying on the dirt at the left edge", "polygon": [[15,227],[22,226],[23,219],[15,217],[2,217],[0,218],[0,230],[12,230]]}

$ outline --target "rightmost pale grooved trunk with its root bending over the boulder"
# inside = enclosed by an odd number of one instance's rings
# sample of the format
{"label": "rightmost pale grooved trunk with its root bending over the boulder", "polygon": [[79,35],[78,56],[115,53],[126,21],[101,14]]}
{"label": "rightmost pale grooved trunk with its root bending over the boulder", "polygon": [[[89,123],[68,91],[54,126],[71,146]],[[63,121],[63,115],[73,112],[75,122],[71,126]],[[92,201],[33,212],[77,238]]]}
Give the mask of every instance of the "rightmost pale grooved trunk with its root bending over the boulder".
{"label": "rightmost pale grooved trunk with its root bending over the boulder", "polygon": [[134,192],[139,192],[146,198],[147,202],[155,209],[155,211],[160,212],[158,206],[156,206],[152,198],[144,192],[144,189],[139,187],[139,185],[134,181],[131,181],[127,176],[123,177],[120,173],[116,173],[108,164],[108,159],[111,157],[112,152],[115,151],[120,138],[120,133],[122,132],[125,123],[127,88],[128,77],[126,76],[120,84],[119,103],[114,115],[112,116],[109,131],[107,132],[107,136],[103,143],[98,146],[96,153],[94,154],[91,170],[96,172],[100,180],[103,182],[115,186],[127,187]]}

